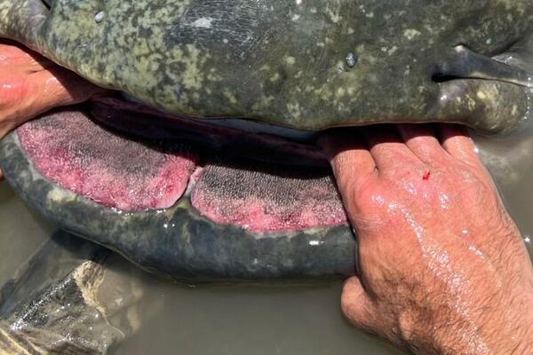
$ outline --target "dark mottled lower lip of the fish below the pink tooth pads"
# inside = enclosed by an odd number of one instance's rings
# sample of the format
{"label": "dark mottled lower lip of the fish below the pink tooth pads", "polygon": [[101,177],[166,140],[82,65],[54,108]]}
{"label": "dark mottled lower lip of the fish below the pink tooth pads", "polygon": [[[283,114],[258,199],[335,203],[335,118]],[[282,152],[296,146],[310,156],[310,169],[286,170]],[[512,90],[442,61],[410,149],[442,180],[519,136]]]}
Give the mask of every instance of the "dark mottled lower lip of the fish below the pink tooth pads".
{"label": "dark mottled lower lip of the fish below the pink tooth pads", "polygon": [[346,277],[355,270],[348,225],[253,233],[218,225],[184,196],[163,210],[123,213],[53,184],[20,147],[16,131],[0,142],[0,166],[22,200],[60,228],[115,250],[163,278],[189,283]]}

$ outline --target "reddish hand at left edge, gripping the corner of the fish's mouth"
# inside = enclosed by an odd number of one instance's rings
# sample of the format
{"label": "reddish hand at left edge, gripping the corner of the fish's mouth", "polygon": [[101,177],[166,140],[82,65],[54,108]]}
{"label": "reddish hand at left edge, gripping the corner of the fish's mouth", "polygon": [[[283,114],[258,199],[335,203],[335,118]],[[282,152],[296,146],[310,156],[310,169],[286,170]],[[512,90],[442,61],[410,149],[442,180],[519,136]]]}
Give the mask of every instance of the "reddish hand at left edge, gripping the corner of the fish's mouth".
{"label": "reddish hand at left edge, gripping the corner of the fish's mouth", "polygon": [[0,42],[0,138],[53,107],[73,105],[102,92],[33,51]]}

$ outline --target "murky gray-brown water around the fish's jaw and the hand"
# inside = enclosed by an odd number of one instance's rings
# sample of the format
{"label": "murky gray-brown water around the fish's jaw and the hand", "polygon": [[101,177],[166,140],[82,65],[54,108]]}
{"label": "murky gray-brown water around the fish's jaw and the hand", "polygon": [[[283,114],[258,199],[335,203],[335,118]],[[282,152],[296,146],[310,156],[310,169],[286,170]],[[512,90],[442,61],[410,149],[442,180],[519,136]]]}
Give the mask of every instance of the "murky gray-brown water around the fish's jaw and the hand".
{"label": "murky gray-brown water around the fish's jaw and the hand", "polygon": [[[533,256],[533,123],[506,138],[476,138]],[[0,183],[0,284],[54,232]],[[189,287],[155,280],[119,259],[145,296],[131,312],[139,331],[115,355],[401,354],[354,330],[341,317],[341,283]]]}

